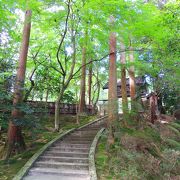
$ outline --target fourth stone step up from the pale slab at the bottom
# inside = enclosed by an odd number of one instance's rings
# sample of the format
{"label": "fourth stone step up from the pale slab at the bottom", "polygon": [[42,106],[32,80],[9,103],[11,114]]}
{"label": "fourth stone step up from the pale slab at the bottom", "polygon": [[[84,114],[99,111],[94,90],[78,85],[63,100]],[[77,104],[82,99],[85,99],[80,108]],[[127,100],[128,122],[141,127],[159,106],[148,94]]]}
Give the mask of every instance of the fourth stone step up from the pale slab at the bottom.
{"label": "fourth stone step up from the pale slab at the bottom", "polygon": [[49,150],[47,152],[58,152],[58,151],[64,151],[64,152],[89,152],[89,148],[76,148],[76,147],[71,147],[71,148],[67,148],[67,147],[51,147],[49,148]]}

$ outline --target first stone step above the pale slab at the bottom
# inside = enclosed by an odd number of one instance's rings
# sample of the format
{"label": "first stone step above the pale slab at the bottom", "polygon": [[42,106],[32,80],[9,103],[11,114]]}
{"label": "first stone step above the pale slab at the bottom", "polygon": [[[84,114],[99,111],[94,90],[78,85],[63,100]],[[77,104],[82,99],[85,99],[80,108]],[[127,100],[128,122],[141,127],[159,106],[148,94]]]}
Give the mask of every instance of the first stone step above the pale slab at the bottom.
{"label": "first stone step above the pale slab at the bottom", "polygon": [[67,169],[79,169],[79,170],[88,170],[88,163],[68,163],[68,162],[54,162],[54,161],[37,161],[34,166],[35,167],[43,167],[43,168],[67,168]]}

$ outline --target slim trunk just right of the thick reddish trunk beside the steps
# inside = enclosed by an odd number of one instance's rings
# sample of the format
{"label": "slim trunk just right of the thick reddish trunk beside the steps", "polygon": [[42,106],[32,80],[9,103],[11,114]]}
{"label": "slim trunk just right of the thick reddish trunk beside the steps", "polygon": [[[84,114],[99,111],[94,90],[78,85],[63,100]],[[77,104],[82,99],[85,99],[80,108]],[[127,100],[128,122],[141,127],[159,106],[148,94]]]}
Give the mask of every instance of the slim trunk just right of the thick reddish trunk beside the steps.
{"label": "slim trunk just right of the thick reddish trunk beside the steps", "polygon": [[[122,111],[124,118],[128,112],[128,99],[127,99],[127,88],[126,88],[126,55],[125,55],[125,46],[123,42],[121,42],[121,94],[122,94]],[[123,52],[124,51],[124,52]]]}

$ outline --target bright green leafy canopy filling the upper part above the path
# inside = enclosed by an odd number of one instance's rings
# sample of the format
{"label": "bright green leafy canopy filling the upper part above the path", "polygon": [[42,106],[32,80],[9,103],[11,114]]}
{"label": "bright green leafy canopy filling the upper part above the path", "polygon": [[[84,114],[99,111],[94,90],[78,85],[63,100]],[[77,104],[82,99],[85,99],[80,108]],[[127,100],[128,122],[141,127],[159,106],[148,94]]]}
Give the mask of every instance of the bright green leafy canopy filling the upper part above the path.
{"label": "bright green leafy canopy filling the upper part above the path", "polygon": [[[76,63],[75,69],[81,66],[82,44],[87,41],[87,61],[89,59],[100,59],[109,53],[109,32],[117,34],[117,52],[119,58],[119,42],[124,41],[128,55],[130,45],[135,49],[134,63],[137,75],[148,75],[156,78],[159,73],[163,78],[154,81],[154,90],[162,91],[166,111],[172,113],[178,99],[176,91],[179,80],[179,2],[168,2],[162,7],[156,1],[73,1],[70,4],[70,16],[67,22],[67,33],[60,47],[59,58],[63,69],[66,71],[65,79],[62,68],[57,61],[57,50],[67,16],[67,4],[62,1],[35,1],[24,3],[22,1],[8,1],[1,3],[1,31],[6,34],[6,43],[1,43],[0,59],[6,64],[16,65],[18,60],[18,49],[20,48],[21,30],[23,16],[26,8],[32,10],[32,29],[27,63],[27,77],[25,90],[31,87],[29,77],[33,75],[34,87],[30,92],[29,99],[48,99],[54,101],[64,86],[64,80],[68,79],[73,60],[73,41],[75,39]],[[161,8],[158,8],[161,7]],[[114,26],[110,26],[109,17],[115,18]],[[84,38],[87,30],[88,36]],[[75,34],[73,35],[72,32]],[[131,41],[130,41],[131,38]],[[71,53],[67,51],[71,48]],[[128,58],[127,58],[128,59]],[[2,65],[2,61],[0,64]],[[119,61],[118,61],[119,62]],[[127,68],[129,67],[127,63]],[[118,64],[119,68],[119,64]],[[10,68],[3,71],[9,73],[14,70]],[[107,82],[108,56],[102,61],[93,62],[93,71],[99,74],[101,86]],[[61,72],[61,73],[60,73]],[[0,72],[1,73],[1,72]],[[14,74],[14,71],[13,71]],[[11,74],[12,75],[12,74]],[[66,86],[67,91],[79,93],[80,71],[74,79],[70,80],[73,85]],[[118,73],[118,78],[120,73]],[[173,80],[172,80],[173,77]],[[1,81],[1,78],[0,78]],[[175,82],[175,83],[174,83]],[[93,77],[93,84],[96,78]],[[151,83],[152,85],[152,83]],[[172,90],[172,95],[167,96]],[[48,92],[48,93],[47,93]],[[96,92],[96,90],[95,90]],[[174,94],[175,92],[175,94]],[[96,94],[96,93],[94,93]],[[67,93],[64,95],[67,95]],[[70,100],[67,97],[68,101]],[[67,101],[67,100],[65,100]],[[73,100],[75,101],[75,100]]]}

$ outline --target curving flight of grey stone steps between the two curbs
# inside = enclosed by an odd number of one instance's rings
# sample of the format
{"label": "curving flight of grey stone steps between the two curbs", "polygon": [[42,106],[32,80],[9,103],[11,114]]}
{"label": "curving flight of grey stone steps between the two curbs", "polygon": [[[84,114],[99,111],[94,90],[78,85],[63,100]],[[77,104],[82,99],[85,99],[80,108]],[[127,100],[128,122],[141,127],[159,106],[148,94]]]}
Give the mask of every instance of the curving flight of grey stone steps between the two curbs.
{"label": "curving flight of grey stone steps between the two curbs", "polygon": [[104,121],[77,129],[50,146],[23,180],[90,180],[89,150]]}

